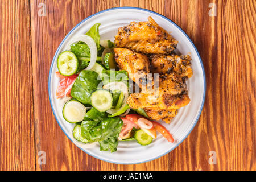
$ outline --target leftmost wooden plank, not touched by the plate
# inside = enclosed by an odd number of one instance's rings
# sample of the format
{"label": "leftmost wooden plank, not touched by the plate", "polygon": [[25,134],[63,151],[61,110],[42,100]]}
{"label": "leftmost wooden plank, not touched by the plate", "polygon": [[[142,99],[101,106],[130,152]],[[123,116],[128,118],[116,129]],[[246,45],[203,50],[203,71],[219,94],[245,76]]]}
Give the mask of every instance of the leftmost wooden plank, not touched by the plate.
{"label": "leftmost wooden plank, not touched by the plate", "polygon": [[0,1],[0,171],[34,170],[30,5]]}

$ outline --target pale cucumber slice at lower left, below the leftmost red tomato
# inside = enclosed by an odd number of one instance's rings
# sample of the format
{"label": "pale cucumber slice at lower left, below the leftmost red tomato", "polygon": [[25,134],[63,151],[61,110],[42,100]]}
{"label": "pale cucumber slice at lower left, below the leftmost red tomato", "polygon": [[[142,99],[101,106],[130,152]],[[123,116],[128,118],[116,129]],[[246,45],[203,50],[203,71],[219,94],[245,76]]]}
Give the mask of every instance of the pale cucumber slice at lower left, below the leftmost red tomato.
{"label": "pale cucumber slice at lower left, below the leftmost red tomato", "polygon": [[76,123],[84,120],[86,108],[79,101],[70,100],[64,105],[62,113],[66,121]]}

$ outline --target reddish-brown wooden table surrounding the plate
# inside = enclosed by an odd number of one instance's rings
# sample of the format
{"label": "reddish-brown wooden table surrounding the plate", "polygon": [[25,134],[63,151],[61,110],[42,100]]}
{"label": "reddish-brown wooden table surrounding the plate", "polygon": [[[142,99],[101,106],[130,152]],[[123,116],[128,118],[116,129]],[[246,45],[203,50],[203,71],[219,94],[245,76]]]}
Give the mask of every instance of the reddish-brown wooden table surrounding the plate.
{"label": "reddish-brown wooden table surrounding the plate", "polygon": [[[1,0],[0,170],[255,170],[255,2]],[[204,109],[189,137],[137,165],[82,152],[61,131],[48,98],[49,68],[64,36],[89,15],[118,6],[177,23],[199,50],[207,78]]]}

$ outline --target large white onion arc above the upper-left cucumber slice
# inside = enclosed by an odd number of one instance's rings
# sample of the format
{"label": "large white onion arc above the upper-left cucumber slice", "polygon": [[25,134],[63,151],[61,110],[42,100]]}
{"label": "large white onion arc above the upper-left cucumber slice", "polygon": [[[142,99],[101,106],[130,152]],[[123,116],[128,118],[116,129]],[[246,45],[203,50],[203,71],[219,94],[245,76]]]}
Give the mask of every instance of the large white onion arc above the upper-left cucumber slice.
{"label": "large white onion arc above the upper-left cucumber slice", "polygon": [[86,70],[91,69],[94,66],[94,64],[96,63],[97,53],[98,53],[97,46],[96,46],[96,43],[94,42],[93,38],[91,38],[88,35],[80,35],[75,38],[72,38],[71,40],[69,40],[69,42],[67,43],[67,46],[65,46],[64,50],[69,50],[71,44],[77,43],[79,41],[84,42],[90,48],[90,63],[88,65],[88,67],[85,69]]}

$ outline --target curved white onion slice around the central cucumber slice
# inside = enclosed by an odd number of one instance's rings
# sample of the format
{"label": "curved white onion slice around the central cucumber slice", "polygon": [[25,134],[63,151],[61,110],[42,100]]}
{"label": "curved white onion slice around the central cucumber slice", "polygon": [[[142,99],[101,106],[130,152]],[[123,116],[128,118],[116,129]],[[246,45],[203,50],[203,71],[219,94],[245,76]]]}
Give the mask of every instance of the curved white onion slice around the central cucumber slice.
{"label": "curved white onion slice around the central cucumber slice", "polygon": [[126,106],[126,102],[128,99],[128,87],[124,82],[117,82],[117,81],[110,82],[110,83],[104,85],[103,88],[107,89],[107,90],[112,90],[112,91],[120,90],[123,92],[123,96],[124,96],[122,106],[119,109],[109,109],[106,111],[107,113],[109,113],[109,114],[117,113],[119,110],[122,110],[123,107]]}

